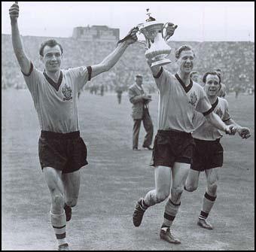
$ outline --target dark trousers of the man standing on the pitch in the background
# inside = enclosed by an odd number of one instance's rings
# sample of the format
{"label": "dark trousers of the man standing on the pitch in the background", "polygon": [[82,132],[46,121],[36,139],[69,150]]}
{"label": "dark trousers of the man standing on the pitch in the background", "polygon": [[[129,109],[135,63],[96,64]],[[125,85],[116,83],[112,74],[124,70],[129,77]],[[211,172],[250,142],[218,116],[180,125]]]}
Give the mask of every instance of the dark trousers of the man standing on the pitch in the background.
{"label": "dark trousers of the man standing on the pitch in the background", "polygon": [[133,148],[138,147],[139,129],[140,129],[142,121],[143,121],[143,126],[146,131],[143,146],[147,147],[147,146],[151,145],[154,127],[153,127],[151,117],[148,113],[148,108],[143,109],[142,119],[134,119],[133,121],[134,121],[134,124],[133,124]]}

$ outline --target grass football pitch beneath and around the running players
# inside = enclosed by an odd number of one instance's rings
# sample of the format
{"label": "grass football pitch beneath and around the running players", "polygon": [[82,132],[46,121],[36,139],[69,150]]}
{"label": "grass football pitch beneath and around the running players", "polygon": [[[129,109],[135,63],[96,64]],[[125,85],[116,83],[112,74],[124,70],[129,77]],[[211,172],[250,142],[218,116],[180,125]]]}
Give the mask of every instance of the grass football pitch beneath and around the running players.
{"label": "grass football pitch beneath and around the running players", "polygon": [[[157,95],[150,114],[157,132]],[[78,205],[67,224],[72,250],[254,250],[254,96],[227,96],[230,114],[251,129],[251,138],[224,135],[224,166],[218,197],[209,214],[213,230],[197,226],[205,175],[199,188],[184,192],[173,233],[181,244],[159,238],[165,202],[149,208],[133,226],[136,201],[154,188],[151,151],[132,150],[133,120],[126,94],[82,93],[81,136],[89,165],[81,172]],[[55,250],[50,193],[38,160],[38,117],[28,90],[2,90],[2,250]],[[141,128],[139,144],[145,135]]]}

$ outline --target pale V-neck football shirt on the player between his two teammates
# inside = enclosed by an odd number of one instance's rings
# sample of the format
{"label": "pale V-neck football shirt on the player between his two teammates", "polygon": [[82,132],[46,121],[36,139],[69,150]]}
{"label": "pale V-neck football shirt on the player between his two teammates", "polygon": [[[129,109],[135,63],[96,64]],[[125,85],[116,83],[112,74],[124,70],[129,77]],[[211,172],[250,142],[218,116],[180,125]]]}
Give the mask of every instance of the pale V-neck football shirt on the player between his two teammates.
{"label": "pale V-neck football shirt on the player between his two teammates", "polygon": [[212,108],[203,88],[192,80],[185,87],[178,74],[163,67],[154,78],[159,90],[158,129],[193,132],[195,111],[207,113]]}

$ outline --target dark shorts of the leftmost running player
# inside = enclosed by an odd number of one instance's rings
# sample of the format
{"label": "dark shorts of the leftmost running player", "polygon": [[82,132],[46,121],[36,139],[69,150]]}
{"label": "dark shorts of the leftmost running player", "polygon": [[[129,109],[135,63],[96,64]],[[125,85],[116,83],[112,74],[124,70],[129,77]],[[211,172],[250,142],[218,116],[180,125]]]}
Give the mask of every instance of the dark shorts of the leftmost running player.
{"label": "dark shorts of the leftmost running player", "polygon": [[38,141],[41,169],[52,167],[62,173],[75,172],[87,165],[87,147],[80,132],[41,131]]}

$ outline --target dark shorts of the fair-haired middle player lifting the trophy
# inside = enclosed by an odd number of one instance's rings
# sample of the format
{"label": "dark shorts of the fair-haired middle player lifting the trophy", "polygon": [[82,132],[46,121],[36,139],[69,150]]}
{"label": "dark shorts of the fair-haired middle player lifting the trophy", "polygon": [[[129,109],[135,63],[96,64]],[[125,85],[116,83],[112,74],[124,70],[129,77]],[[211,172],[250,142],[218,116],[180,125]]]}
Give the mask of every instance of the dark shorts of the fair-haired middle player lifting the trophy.
{"label": "dark shorts of the fair-haired middle player lifting the trophy", "polygon": [[194,139],[187,132],[158,130],[154,138],[151,166],[173,167],[175,162],[190,164],[194,151]]}

